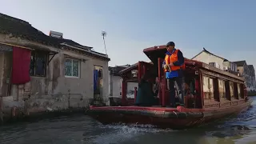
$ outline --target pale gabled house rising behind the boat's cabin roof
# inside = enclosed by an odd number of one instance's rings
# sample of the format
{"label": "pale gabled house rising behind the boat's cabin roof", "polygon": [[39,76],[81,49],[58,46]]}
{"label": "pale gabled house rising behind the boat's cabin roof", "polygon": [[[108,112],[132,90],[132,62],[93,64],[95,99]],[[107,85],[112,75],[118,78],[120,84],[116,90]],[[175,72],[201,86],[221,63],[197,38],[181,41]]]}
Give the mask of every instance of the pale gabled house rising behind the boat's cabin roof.
{"label": "pale gabled house rising behind the boat's cabin roof", "polygon": [[238,74],[237,65],[234,62],[230,62],[226,58],[222,58],[216,54],[210,53],[210,51],[206,50],[205,48],[203,48],[199,54],[195,55],[194,58],[191,59],[199,62],[205,62],[210,66],[229,71],[233,74]]}

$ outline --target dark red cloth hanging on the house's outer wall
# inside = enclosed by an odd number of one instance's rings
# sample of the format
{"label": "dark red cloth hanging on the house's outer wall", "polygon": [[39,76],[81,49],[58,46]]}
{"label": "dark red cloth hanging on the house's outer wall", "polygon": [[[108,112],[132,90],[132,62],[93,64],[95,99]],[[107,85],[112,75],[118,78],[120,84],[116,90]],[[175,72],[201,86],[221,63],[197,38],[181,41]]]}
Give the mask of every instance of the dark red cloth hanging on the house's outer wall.
{"label": "dark red cloth hanging on the house's outer wall", "polygon": [[11,78],[13,84],[30,82],[30,56],[30,50],[13,47],[13,69]]}

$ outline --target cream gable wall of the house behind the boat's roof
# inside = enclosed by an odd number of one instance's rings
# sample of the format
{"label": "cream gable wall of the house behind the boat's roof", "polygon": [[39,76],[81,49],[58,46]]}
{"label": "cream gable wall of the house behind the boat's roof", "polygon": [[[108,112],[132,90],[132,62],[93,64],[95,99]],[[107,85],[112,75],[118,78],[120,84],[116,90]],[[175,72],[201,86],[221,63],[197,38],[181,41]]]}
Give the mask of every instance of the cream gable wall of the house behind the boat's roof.
{"label": "cream gable wall of the house behind the boat's roof", "polygon": [[223,70],[223,59],[215,57],[212,54],[207,54],[206,52],[202,52],[201,54],[198,54],[197,57],[193,58],[193,60],[199,61],[199,62],[205,62],[209,64],[210,62],[217,62],[220,66],[220,69]]}

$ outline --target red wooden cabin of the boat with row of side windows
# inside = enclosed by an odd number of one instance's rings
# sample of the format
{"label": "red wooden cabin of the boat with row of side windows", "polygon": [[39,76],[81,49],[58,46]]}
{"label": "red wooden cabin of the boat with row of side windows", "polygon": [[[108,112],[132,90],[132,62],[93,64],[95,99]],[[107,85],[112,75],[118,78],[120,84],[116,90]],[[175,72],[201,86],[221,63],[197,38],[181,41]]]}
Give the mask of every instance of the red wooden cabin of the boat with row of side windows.
{"label": "red wooden cabin of the boat with row of side windows", "polygon": [[[157,101],[153,106],[169,106],[170,92],[167,90],[165,72],[162,68],[166,47],[154,46],[144,49],[143,52],[151,62],[138,62],[120,71],[122,75],[122,106],[134,106],[138,83],[142,82],[142,78],[146,78],[146,81],[151,83],[152,90],[153,86],[157,86],[157,94],[154,95]],[[218,108],[246,102],[244,78],[187,58],[185,58],[185,65],[186,94],[184,101],[186,108]],[[155,82],[156,79],[158,82]]]}

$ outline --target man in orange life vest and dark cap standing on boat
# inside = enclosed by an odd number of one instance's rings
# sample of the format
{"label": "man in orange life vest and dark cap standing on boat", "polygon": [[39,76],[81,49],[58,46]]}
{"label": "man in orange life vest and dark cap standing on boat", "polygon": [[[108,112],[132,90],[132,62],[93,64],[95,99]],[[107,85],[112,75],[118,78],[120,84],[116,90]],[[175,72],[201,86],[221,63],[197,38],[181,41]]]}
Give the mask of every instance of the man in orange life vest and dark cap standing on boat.
{"label": "man in orange life vest and dark cap standing on boat", "polygon": [[170,103],[173,107],[175,102],[174,82],[177,83],[178,97],[180,105],[184,105],[184,86],[183,86],[183,70],[185,69],[184,57],[181,50],[176,50],[174,42],[166,44],[166,58],[164,69],[166,72],[167,88],[170,90]]}

